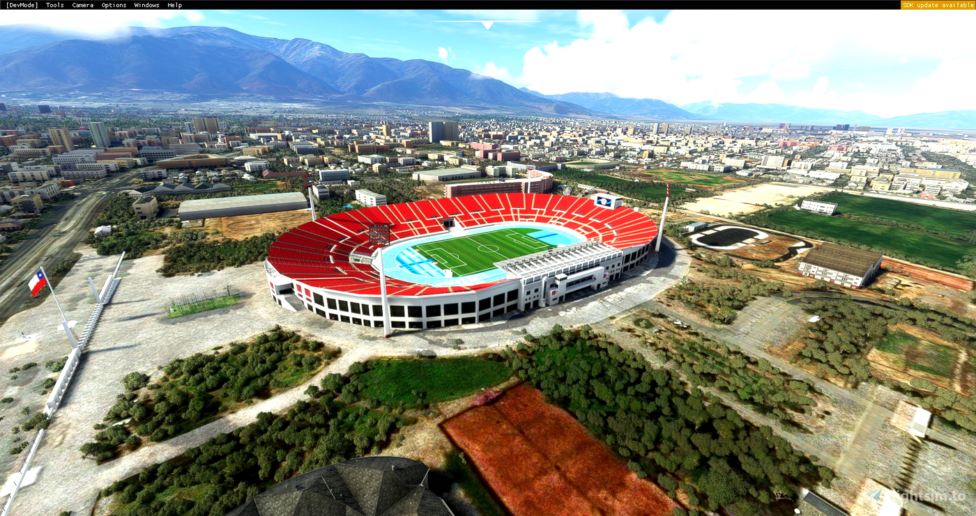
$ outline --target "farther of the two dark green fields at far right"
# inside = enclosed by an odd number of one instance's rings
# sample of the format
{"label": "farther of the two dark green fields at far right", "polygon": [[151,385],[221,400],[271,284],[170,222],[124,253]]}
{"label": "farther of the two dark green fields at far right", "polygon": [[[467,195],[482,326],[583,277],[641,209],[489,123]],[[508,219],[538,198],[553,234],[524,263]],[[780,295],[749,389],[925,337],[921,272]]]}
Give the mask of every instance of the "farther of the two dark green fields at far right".
{"label": "farther of the two dark green fields at far right", "polygon": [[962,212],[849,193],[835,193],[824,200],[836,203],[839,215],[887,218],[905,224],[920,225],[956,237],[961,237],[976,228],[976,212]]}

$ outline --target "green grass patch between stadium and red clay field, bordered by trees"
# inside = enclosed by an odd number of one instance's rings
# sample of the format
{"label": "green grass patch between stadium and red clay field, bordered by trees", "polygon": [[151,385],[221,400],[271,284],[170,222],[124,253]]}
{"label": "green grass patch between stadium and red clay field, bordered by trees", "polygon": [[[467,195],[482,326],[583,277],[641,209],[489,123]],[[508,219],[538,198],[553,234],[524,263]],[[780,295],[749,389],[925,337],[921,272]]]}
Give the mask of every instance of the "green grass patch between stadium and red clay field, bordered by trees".
{"label": "green grass patch between stadium and red clay field, bordered by trees", "polygon": [[371,366],[356,378],[366,385],[360,396],[391,407],[461,398],[511,376],[505,362],[479,357],[375,360]]}

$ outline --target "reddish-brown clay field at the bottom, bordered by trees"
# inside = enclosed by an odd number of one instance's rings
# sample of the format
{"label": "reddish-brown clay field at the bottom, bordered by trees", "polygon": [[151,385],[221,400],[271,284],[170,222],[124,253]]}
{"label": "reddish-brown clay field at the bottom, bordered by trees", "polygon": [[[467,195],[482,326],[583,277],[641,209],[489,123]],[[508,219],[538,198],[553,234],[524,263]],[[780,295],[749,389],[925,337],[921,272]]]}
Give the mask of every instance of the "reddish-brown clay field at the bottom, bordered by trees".
{"label": "reddish-brown clay field at the bottom, bordered by trees", "polygon": [[670,516],[676,506],[525,383],[442,428],[514,516]]}

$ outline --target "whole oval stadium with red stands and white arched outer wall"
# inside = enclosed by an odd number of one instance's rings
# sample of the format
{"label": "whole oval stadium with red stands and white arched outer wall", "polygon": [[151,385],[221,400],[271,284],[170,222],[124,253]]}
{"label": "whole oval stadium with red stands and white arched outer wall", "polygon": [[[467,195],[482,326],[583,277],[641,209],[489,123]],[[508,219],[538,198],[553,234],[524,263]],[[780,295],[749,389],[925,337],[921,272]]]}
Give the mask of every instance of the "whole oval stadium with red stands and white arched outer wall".
{"label": "whole oval stadium with red stands and white arched outer wall", "polygon": [[647,258],[657,229],[613,195],[472,195],[306,222],[271,245],[264,269],[282,307],[388,335],[606,288]]}

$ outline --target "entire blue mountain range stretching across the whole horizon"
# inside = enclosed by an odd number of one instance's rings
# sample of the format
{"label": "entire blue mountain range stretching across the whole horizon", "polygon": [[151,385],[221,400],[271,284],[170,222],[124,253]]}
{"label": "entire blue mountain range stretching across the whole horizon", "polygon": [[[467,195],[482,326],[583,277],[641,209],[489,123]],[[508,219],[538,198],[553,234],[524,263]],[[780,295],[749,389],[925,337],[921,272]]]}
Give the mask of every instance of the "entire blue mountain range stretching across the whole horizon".
{"label": "entire blue mountain range stretching across the whole horizon", "polygon": [[0,25],[0,90],[127,100],[168,94],[186,101],[259,98],[515,115],[976,129],[976,110],[882,118],[779,103],[705,100],[678,106],[611,93],[543,95],[440,62],[372,58],[307,39],[225,27],[126,27],[116,34],[121,35]]}

